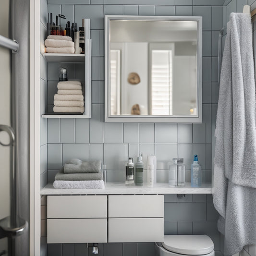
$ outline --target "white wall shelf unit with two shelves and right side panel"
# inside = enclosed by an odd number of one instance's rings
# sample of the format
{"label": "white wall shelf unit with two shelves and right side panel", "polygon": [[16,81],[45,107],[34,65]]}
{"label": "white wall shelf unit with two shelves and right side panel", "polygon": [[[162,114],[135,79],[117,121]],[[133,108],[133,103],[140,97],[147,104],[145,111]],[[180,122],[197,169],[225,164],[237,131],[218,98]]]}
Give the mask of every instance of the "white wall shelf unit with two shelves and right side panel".
{"label": "white wall shelf unit with two shelves and right side panel", "polygon": [[85,62],[85,112],[83,114],[55,114],[42,115],[43,118],[91,118],[92,110],[92,39],[85,39],[85,54],[44,53],[48,62]]}

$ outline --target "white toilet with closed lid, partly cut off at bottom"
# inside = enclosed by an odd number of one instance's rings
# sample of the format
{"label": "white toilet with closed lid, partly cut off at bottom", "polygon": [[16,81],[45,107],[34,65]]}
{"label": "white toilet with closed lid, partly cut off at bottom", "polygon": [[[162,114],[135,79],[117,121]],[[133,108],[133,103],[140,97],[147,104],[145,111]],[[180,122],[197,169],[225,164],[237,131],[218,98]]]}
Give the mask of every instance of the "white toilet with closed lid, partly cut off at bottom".
{"label": "white toilet with closed lid, partly cut off at bottom", "polygon": [[214,244],[207,235],[165,235],[155,244],[156,256],[214,256]]}

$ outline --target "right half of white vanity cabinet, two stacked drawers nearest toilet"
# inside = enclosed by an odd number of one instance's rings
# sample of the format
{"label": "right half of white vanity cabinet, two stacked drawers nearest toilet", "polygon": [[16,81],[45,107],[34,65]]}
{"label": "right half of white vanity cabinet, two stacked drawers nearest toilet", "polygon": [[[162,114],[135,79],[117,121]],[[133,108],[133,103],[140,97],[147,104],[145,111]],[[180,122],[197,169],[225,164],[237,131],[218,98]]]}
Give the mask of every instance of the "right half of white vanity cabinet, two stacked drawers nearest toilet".
{"label": "right half of white vanity cabinet, two stacked drawers nearest toilet", "polygon": [[109,242],[163,242],[163,195],[109,195]]}

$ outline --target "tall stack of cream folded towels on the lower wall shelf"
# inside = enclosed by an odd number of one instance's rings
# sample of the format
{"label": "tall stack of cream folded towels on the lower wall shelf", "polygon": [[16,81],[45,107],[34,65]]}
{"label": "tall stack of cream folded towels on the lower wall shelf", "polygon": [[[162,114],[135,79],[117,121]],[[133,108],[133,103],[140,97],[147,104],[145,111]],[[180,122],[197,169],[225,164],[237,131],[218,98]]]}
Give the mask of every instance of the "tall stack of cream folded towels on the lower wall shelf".
{"label": "tall stack of cream folded towels on the lower wall shelf", "polygon": [[85,101],[80,81],[62,81],[58,85],[58,93],[54,95],[55,113],[84,113]]}

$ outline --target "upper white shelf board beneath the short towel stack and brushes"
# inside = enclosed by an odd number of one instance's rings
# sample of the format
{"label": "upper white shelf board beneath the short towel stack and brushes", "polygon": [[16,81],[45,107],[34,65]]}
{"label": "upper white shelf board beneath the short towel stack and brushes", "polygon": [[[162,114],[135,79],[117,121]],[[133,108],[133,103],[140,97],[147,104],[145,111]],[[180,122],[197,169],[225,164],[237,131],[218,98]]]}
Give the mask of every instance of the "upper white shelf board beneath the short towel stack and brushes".
{"label": "upper white shelf board beneath the short towel stack and brushes", "polygon": [[43,53],[48,62],[85,62],[85,54]]}

